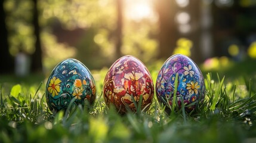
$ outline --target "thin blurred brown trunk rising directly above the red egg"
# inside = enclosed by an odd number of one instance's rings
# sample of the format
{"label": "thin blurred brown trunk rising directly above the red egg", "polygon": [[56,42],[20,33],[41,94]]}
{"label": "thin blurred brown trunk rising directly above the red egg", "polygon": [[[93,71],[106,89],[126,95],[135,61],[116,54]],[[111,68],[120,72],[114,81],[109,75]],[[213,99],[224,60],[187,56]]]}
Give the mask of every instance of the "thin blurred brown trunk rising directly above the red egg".
{"label": "thin blurred brown trunk rising directly above the red egg", "polygon": [[116,0],[116,8],[118,12],[118,20],[116,27],[116,57],[121,57],[121,46],[122,46],[122,0]]}

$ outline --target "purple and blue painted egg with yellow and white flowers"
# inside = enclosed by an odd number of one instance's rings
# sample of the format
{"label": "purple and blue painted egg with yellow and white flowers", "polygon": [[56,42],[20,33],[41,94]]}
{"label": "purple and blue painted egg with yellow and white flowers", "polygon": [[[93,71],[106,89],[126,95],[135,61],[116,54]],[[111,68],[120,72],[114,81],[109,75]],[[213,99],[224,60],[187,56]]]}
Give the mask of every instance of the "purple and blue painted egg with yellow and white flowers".
{"label": "purple and blue painted egg with yellow and white flowers", "polygon": [[186,55],[172,55],[165,61],[156,79],[156,96],[166,105],[166,113],[170,113],[176,74],[178,107],[181,108],[183,101],[186,112],[190,113],[203,100],[205,83],[199,67]]}

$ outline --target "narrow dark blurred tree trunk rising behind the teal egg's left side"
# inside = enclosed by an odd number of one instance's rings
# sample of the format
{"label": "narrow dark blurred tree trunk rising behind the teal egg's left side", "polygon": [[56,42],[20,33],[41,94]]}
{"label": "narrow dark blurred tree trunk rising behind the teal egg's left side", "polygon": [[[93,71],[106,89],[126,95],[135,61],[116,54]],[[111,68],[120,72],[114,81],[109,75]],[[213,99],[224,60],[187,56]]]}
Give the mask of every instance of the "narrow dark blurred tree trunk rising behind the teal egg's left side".
{"label": "narrow dark blurred tree trunk rising behind the teal egg's left side", "polygon": [[34,34],[36,37],[35,42],[35,52],[32,55],[32,71],[41,72],[42,71],[42,48],[40,40],[40,27],[38,23],[38,1],[33,0],[34,9],[33,9],[33,26]]}

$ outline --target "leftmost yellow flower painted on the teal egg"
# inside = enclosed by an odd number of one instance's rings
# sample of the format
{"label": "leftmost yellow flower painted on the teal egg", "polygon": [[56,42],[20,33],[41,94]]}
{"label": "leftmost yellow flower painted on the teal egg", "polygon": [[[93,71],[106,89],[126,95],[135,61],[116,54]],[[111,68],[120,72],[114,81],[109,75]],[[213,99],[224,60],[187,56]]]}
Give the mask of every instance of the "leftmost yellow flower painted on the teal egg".
{"label": "leftmost yellow flower painted on the teal egg", "polygon": [[53,79],[50,80],[49,86],[48,86],[48,91],[55,97],[55,95],[58,95],[58,92],[60,92],[60,79],[56,79],[54,76]]}

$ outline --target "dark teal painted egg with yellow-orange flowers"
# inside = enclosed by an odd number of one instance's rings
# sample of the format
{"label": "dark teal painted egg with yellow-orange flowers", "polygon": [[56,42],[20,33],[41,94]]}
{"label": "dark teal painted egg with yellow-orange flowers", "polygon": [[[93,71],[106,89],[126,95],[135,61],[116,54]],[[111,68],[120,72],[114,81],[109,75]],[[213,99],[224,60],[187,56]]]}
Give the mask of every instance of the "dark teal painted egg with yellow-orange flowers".
{"label": "dark teal painted egg with yellow-orange flowers", "polygon": [[95,82],[90,70],[73,58],[57,64],[46,83],[45,97],[53,112],[65,110],[73,98],[75,105],[84,105],[85,101],[93,104],[95,94]]}

